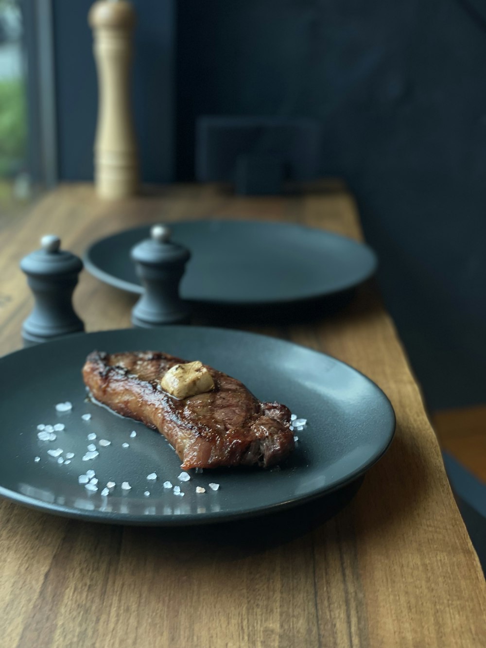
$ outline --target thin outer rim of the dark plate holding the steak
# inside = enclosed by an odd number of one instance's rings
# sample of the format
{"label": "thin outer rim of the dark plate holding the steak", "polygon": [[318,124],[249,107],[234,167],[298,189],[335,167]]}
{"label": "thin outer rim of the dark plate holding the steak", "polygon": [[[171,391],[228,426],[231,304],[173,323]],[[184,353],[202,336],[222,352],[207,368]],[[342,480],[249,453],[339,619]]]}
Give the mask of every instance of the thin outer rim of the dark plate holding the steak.
{"label": "thin outer rim of the dark plate holding the steak", "polygon": [[[396,432],[397,418],[395,415],[395,410],[393,409],[393,405],[391,404],[391,401],[389,400],[386,393],[384,393],[384,391],[380,388],[380,386],[378,386],[373,380],[371,380],[371,378],[366,376],[358,369],[355,369],[353,366],[347,364],[347,362],[343,362],[342,360],[338,360],[338,358],[334,358],[334,356],[330,356],[327,353],[323,353],[322,351],[316,351],[316,349],[311,349],[310,347],[305,347],[303,345],[299,345],[289,340],[283,340],[281,338],[273,338],[272,336],[267,336],[264,334],[254,333],[246,330],[224,329],[222,327],[204,327],[204,326],[187,327],[183,325],[168,325],[167,327],[159,327],[159,328],[160,330],[159,329],[152,329],[152,330],[159,330],[159,332],[163,332],[163,330],[167,330],[167,329],[188,330],[188,331],[209,330],[211,332],[215,332],[216,334],[217,332],[224,331],[229,334],[243,334],[244,336],[264,338],[272,342],[282,343],[284,346],[299,347],[301,349],[305,349],[306,351],[312,354],[319,354],[325,356],[325,358],[329,358],[332,362],[337,362],[338,364],[344,365],[345,367],[347,367],[347,369],[350,369],[354,373],[358,374],[361,378],[363,378],[365,382],[371,384],[373,388],[378,390],[378,393],[381,394],[382,400],[388,410],[388,415],[390,417],[389,431],[388,434],[386,435],[386,439],[384,439],[384,443],[380,444],[380,449],[378,450],[378,452],[376,452],[373,455],[371,459],[365,462],[365,464],[362,465],[361,467],[358,467],[357,469],[343,476],[342,479],[336,481],[330,487],[324,487],[321,489],[317,489],[315,491],[308,492],[306,495],[299,496],[298,498],[293,498],[292,500],[287,500],[284,502],[276,502],[270,505],[264,505],[256,508],[253,506],[253,507],[248,507],[246,509],[238,509],[238,511],[229,511],[229,512],[214,511],[213,513],[211,512],[205,513],[204,515],[191,513],[191,514],[181,516],[181,515],[175,515],[174,513],[172,513],[172,515],[147,515],[147,514],[137,515],[137,514],[127,514],[127,513],[113,513],[110,511],[100,511],[100,510],[98,511],[87,511],[85,509],[78,510],[71,507],[67,507],[62,504],[42,502],[41,500],[38,500],[29,495],[25,495],[17,491],[12,491],[11,489],[7,489],[0,483],[1,497],[5,498],[10,502],[19,503],[31,509],[36,509],[38,511],[41,511],[43,513],[50,513],[51,515],[60,515],[63,517],[77,519],[77,520],[84,520],[86,522],[98,522],[100,524],[121,524],[124,526],[184,527],[184,526],[203,526],[206,524],[217,524],[222,522],[234,522],[237,520],[245,520],[248,518],[254,518],[263,515],[272,515],[273,513],[278,513],[279,511],[284,511],[284,510],[292,509],[294,507],[298,507],[301,504],[310,502],[312,500],[316,500],[318,498],[322,498],[327,494],[338,491],[341,488],[348,485],[349,483],[357,480],[361,476],[364,476],[366,472],[369,469],[371,469],[384,456],[384,454],[386,454],[389,446],[391,445],[391,443],[393,443],[393,439],[395,438],[395,432]],[[137,332],[140,330],[141,329],[110,329],[110,330],[99,330],[99,331],[90,331],[90,332],[78,332],[75,334],[63,336],[62,338],[58,338],[57,340],[41,343],[41,345],[43,348],[49,348],[51,346],[58,345],[58,343],[69,343],[71,342],[71,340],[75,340],[77,338],[86,338],[87,336],[102,335],[102,336],[107,336],[109,338],[110,334],[113,333]],[[29,353],[30,349],[35,349],[38,346],[39,345],[33,345],[32,347],[17,349],[16,351],[12,351],[11,353],[1,356],[0,367],[2,362],[6,358],[11,358],[12,356],[16,356],[17,354]]]}

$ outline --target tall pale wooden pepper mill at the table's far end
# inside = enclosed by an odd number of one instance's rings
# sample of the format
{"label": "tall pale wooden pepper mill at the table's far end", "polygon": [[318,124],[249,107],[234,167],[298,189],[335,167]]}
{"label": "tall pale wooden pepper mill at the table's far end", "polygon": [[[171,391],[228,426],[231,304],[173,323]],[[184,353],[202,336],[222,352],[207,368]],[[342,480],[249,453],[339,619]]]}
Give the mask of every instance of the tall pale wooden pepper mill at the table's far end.
{"label": "tall pale wooden pepper mill at the table's far end", "polygon": [[95,185],[98,196],[133,196],[139,183],[137,143],[130,102],[135,12],[125,0],[99,0],[89,10],[98,70]]}

